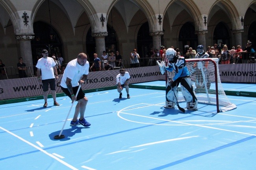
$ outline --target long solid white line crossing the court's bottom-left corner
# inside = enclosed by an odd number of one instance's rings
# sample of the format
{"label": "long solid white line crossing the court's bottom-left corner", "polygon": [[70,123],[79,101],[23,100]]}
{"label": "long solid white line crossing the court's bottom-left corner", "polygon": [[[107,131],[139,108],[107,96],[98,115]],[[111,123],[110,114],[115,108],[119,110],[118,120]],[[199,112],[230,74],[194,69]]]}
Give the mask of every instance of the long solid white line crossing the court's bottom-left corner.
{"label": "long solid white line crossing the court's bottom-left corner", "polygon": [[42,148],[39,148],[39,147],[38,147],[38,146],[36,146],[35,144],[30,143],[29,141],[26,141],[26,140],[25,140],[25,139],[23,139],[22,137],[20,137],[20,136],[18,136],[18,135],[16,135],[16,134],[14,134],[14,133],[12,133],[12,132],[10,132],[9,130],[6,130],[5,128],[2,128],[1,126],[0,126],[0,129],[4,130],[5,132],[9,133],[10,135],[13,135],[13,136],[17,137],[17,138],[18,138],[18,139],[20,139],[21,141],[23,141],[23,142],[25,142],[25,143],[29,144],[30,146],[32,146],[32,147],[34,147],[34,148],[36,148],[37,150],[39,150],[39,151],[43,152],[43,153],[44,153],[44,154],[46,154],[46,155],[48,155],[48,156],[52,157],[53,159],[56,159],[56,161],[59,161],[60,163],[62,163],[63,165],[65,165],[65,166],[69,167],[70,169],[72,169],[72,170],[78,170],[78,169],[77,169],[77,168],[75,168],[74,166],[72,166],[72,165],[70,165],[70,164],[66,163],[65,161],[63,161],[63,160],[59,159],[58,157],[56,157],[56,156],[54,156],[54,155],[52,155],[52,154],[50,154],[50,153],[46,152],[45,150],[43,150]]}

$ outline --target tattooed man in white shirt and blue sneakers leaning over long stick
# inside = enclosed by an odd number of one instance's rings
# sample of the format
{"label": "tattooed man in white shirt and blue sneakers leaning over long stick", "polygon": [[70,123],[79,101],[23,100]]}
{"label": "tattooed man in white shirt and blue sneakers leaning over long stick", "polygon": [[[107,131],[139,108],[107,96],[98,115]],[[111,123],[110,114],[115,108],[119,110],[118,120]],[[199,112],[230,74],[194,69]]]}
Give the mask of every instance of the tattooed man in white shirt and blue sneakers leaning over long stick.
{"label": "tattooed man in white shirt and blue sneakers leaning over long stick", "polygon": [[[85,84],[89,73],[89,62],[87,61],[87,55],[85,53],[78,54],[78,57],[71,60],[64,71],[63,77],[61,79],[61,89],[69,96],[72,100],[78,101],[76,105],[73,120],[70,122],[70,126],[76,126],[81,124],[85,127],[91,124],[84,119],[84,112],[88,102],[87,97],[85,97],[82,89],[79,88],[79,84]],[[78,95],[75,96],[78,91]],[[78,114],[80,113],[80,119],[78,119]]]}

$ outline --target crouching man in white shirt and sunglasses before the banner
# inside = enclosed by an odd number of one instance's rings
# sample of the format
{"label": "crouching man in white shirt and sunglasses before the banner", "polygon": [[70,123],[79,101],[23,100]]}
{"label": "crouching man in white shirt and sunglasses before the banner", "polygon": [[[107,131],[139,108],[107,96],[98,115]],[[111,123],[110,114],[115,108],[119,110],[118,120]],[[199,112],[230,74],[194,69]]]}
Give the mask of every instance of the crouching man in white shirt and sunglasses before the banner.
{"label": "crouching man in white shirt and sunglasses before the banner", "polygon": [[129,80],[130,74],[125,69],[120,69],[120,73],[117,75],[117,91],[119,92],[119,99],[122,98],[122,89],[125,87],[127,93],[127,99],[130,99],[129,95]]}

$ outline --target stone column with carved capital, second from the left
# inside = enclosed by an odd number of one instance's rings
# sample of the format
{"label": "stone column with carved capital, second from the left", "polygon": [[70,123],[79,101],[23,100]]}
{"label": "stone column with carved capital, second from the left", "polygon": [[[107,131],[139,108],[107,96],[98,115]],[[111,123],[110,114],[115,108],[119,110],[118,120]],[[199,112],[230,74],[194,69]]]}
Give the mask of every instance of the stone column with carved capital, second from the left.
{"label": "stone column with carved capital, second from the left", "polygon": [[106,51],[105,37],[108,36],[108,32],[92,33],[91,35],[95,38],[96,53],[100,58],[102,51]]}

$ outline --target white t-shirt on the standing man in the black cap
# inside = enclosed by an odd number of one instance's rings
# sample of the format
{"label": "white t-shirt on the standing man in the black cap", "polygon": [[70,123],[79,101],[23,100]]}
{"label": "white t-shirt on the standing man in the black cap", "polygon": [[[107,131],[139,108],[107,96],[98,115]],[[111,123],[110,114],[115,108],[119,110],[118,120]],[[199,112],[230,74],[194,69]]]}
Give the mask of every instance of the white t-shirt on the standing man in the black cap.
{"label": "white t-shirt on the standing man in the black cap", "polygon": [[37,61],[37,65],[35,67],[41,69],[42,80],[46,80],[46,79],[55,79],[54,70],[53,70],[55,65],[56,63],[53,60],[53,58],[47,57],[47,58],[40,58]]}

